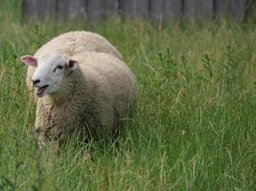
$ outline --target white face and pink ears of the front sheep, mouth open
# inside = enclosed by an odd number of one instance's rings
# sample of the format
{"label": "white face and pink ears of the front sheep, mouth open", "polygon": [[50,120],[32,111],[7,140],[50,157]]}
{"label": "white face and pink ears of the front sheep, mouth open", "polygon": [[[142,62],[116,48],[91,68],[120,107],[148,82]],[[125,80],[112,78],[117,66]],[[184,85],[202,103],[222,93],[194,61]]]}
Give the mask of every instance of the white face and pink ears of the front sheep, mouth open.
{"label": "white face and pink ears of the front sheep, mouth open", "polygon": [[32,83],[35,95],[42,97],[57,93],[63,76],[77,69],[78,62],[58,53],[51,53],[35,58],[32,55],[21,56],[21,61],[35,67]]}

